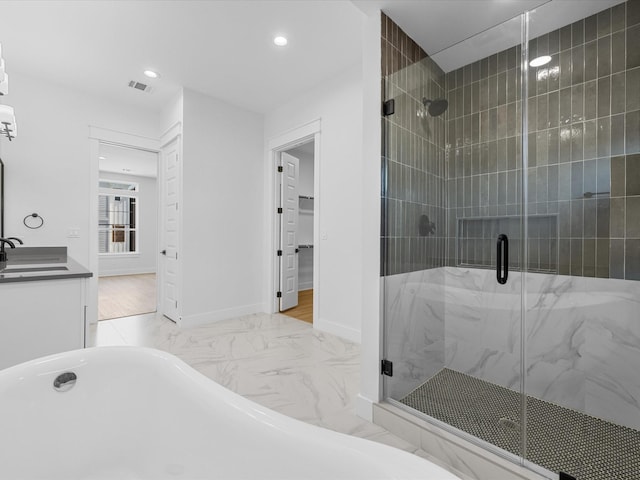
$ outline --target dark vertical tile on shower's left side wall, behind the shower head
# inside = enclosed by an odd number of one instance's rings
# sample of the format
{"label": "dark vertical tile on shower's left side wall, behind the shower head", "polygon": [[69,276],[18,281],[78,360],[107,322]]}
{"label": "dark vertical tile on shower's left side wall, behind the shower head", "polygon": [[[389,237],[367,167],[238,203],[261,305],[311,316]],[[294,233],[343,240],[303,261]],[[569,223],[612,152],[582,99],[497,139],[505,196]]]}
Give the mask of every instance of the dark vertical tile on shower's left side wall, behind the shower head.
{"label": "dark vertical tile on shower's left side wall, behind the shower head", "polygon": [[[446,249],[445,125],[446,115],[425,113],[423,98],[445,97],[445,84],[454,87],[458,79],[446,76],[402,29],[382,15],[383,96],[395,101],[395,113],[382,117],[383,214],[381,227],[383,275],[421,271],[444,265]],[[472,77],[468,69],[467,77]],[[450,108],[471,104],[473,89],[465,90],[460,79],[456,101]],[[466,93],[466,97],[465,97]],[[466,103],[465,103],[466,99]],[[422,117],[418,114],[422,112]],[[471,120],[471,117],[469,117]],[[470,129],[467,129],[470,131]],[[463,133],[462,127],[460,133]],[[476,134],[477,135],[477,134]],[[427,220],[428,219],[428,220]]]}

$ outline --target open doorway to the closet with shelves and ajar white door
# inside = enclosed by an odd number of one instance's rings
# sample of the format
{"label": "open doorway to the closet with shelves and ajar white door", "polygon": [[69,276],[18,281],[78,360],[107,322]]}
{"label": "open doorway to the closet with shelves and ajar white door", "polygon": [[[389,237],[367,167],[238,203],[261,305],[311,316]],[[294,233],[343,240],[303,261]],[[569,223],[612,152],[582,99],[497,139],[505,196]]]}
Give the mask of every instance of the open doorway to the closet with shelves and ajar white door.
{"label": "open doorway to the closet with shelves and ajar white door", "polygon": [[283,314],[313,323],[315,143],[280,153],[280,302]]}

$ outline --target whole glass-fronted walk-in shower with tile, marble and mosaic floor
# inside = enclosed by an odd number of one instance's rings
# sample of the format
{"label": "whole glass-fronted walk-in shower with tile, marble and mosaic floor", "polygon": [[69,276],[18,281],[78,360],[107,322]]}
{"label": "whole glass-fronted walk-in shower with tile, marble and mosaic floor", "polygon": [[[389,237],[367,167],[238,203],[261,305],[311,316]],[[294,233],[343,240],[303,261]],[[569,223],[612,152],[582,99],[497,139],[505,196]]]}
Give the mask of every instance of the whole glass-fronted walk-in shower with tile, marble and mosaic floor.
{"label": "whole glass-fronted walk-in shower with tile, marble and mosaic floor", "polygon": [[531,478],[632,479],[640,2],[558,3],[450,57],[382,16],[384,408]]}

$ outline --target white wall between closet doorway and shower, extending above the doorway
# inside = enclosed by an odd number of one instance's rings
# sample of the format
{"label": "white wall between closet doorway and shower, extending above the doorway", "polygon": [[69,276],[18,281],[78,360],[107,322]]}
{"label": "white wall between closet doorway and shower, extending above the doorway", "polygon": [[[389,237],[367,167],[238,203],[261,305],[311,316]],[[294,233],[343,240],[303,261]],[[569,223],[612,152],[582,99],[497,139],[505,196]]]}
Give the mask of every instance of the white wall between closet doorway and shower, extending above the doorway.
{"label": "white wall between closet doorway and shower, extending above the doorway", "polygon": [[[314,327],[360,341],[362,284],[362,69],[356,65],[266,115],[265,144],[321,119],[319,215],[321,255]],[[379,164],[379,159],[378,159]],[[269,191],[273,179],[265,175]],[[379,201],[379,200],[378,200]],[[267,221],[273,214],[265,210]],[[270,258],[270,256],[268,257]],[[271,292],[266,292],[270,298]]]}

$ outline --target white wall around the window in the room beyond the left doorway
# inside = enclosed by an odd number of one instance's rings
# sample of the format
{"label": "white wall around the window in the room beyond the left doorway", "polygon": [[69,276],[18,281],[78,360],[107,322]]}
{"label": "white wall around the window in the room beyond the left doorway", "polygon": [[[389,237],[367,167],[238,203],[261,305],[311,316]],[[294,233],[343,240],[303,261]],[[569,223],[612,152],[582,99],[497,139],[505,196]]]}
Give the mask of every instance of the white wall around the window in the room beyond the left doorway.
{"label": "white wall around the window in the room beyond the left doorway", "polygon": [[138,253],[100,255],[98,275],[155,273],[158,260],[158,180],[112,172],[100,172],[100,178],[138,184]]}

